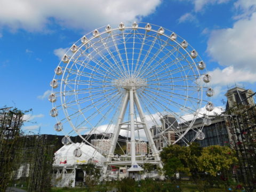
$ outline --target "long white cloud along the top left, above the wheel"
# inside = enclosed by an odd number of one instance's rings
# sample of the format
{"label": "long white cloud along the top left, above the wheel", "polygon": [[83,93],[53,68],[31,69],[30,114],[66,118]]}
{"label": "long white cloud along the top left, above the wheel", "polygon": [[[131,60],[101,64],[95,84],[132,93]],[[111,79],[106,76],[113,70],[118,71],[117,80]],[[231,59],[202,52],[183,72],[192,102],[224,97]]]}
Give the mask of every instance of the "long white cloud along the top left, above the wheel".
{"label": "long white cloud along the top left, above the wheel", "polygon": [[140,20],[153,13],[160,3],[161,0],[2,0],[0,26],[40,31],[53,19],[65,27],[95,28],[108,22]]}

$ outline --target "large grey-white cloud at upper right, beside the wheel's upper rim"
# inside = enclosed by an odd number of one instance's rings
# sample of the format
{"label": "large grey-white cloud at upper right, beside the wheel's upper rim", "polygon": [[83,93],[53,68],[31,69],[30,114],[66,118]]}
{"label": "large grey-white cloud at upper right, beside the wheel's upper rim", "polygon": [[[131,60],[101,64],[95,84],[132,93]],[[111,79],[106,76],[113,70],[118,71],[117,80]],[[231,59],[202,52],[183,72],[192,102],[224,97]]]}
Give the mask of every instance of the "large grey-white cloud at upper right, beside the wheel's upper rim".
{"label": "large grey-white cloud at upper right, beside the wheel's upper rim", "polygon": [[207,52],[222,66],[233,65],[237,69],[255,72],[255,23],[256,13],[253,13],[251,18],[236,21],[232,28],[213,30],[207,42]]}

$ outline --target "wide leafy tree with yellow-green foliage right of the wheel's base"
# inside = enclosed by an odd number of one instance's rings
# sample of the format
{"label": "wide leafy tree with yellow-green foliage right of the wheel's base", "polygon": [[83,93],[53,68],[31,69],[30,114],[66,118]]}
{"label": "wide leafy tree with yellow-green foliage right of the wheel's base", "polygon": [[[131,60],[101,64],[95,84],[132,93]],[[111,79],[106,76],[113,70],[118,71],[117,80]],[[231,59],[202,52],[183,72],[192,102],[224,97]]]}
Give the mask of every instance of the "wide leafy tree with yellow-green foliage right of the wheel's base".
{"label": "wide leafy tree with yellow-green foliage right of the wheel's base", "polygon": [[175,180],[175,173],[185,173],[197,183],[199,191],[205,191],[206,185],[218,186],[220,181],[228,183],[227,179],[221,180],[221,177],[227,178],[232,173],[231,165],[237,163],[234,155],[235,151],[229,147],[202,148],[197,143],[189,147],[171,145],[161,152],[165,176]]}

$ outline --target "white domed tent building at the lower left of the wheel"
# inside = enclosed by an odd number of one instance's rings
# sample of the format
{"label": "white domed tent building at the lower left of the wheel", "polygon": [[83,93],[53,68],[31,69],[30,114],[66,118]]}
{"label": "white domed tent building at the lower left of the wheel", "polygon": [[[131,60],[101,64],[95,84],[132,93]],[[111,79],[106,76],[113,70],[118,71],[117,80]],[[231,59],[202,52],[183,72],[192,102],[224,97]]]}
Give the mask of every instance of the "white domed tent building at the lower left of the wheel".
{"label": "white domed tent building at the lower left of the wheel", "polygon": [[[73,154],[77,148],[80,148],[82,151],[80,157],[75,157]],[[79,182],[83,182],[85,174],[81,172],[79,165],[94,163],[102,166],[104,161],[106,161],[105,157],[89,145],[84,143],[64,145],[55,152],[52,183],[56,187],[75,187]],[[77,178],[80,178],[80,180]]]}

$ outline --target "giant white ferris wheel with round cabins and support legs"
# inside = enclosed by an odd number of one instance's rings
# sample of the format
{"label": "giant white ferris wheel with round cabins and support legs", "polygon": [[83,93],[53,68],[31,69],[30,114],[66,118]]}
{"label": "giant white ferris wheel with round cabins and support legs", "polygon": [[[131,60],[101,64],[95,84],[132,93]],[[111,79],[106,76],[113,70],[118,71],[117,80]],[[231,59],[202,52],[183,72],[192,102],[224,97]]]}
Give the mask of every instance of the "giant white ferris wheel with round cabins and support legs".
{"label": "giant white ferris wheel with round cabins and support legs", "polygon": [[[173,31],[121,22],[91,31],[63,55],[50,83],[50,115],[57,119],[54,129],[66,135],[63,145],[79,135],[81,145],[100,151],[91,139],[109,139],[102,152],[109,164],[130,162],[139,170],[138,164],[153,159],[162,166],[163,143],[204,139],[203,126],[211,124],[207,113],[214,108],[210,81],[197,51]],[[194,126],[198,118],[203,119],[199,127]],[[188,139],[190,130],[196,134]],[[135,150],[141,141],[151,158]],[[116,148],[122,154],[116,155]]]}

